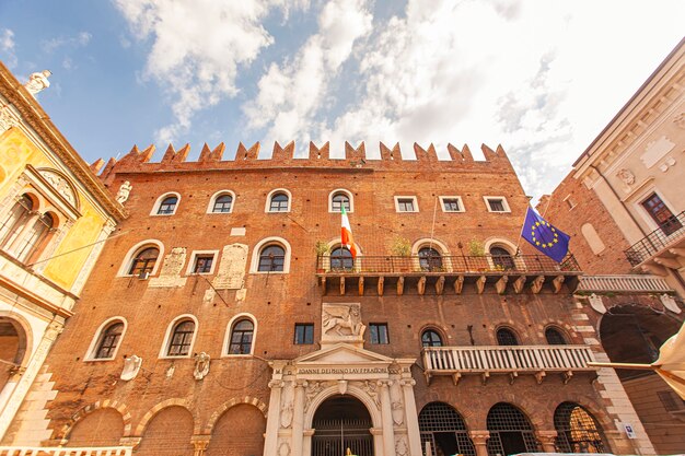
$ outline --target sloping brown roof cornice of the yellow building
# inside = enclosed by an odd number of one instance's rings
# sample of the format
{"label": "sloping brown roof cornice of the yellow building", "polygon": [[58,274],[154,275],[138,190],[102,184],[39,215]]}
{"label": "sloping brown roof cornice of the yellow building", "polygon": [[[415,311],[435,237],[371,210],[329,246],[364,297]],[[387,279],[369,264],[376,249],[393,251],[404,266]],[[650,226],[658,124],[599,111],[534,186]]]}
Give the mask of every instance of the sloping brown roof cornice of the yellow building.
{"label": "sloping brown roof cornice of the yellow building", "polygon": [[114,218],[121,221],[127,218],[126,210],[109,194],[95,176],[89,165],[51,122],[40,105],[0,62],[0,93],[19,110],[22,121],[31,127],[45,141],[50,151],[57,155],[77,176],[81,185]]}

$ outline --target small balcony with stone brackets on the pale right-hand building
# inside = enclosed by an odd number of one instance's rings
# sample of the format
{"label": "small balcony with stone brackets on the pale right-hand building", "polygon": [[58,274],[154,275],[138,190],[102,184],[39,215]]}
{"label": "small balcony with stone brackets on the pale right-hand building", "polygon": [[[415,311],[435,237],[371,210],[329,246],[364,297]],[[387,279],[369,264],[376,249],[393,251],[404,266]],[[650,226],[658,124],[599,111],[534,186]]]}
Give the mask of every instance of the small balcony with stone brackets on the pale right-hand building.
{"label": "small balcony with stone brackets on the pale right-hand building", "polygon": [[664,268],[685,266],[685,211],[671,217],[625,254],[630,265],[658,276],[666,276]]}

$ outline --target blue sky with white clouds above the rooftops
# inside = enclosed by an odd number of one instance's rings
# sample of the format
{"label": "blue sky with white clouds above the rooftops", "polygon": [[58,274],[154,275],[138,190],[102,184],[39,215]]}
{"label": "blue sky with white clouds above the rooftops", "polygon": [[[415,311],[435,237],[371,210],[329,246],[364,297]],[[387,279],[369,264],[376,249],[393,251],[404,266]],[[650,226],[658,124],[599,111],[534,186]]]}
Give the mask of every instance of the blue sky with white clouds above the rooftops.
{"label": "blue sky with white clouds above the rooftops", "polygon": [[685,1],[0,0],[0,60],[88,161],[133,144],[502,144],[535,199],[683,38]]}

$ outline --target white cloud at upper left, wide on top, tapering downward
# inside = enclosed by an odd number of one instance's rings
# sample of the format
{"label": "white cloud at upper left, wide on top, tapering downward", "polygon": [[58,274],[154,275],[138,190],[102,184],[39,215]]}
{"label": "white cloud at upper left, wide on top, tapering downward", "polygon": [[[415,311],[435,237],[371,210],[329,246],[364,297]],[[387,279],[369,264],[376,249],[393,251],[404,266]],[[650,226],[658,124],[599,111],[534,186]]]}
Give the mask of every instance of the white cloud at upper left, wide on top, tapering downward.
{"label": "white cloud at upper left, wide on top, tapering downward", "polygon": [[153,40],[146,75],[172,100],[175,122],[156,132],[167,142],[188,130],[196,112],[237,94],[239,68],[274,43],[260,23],[272,8],[286,11],[309,2],[116,0],[115,4],[132,35]]}

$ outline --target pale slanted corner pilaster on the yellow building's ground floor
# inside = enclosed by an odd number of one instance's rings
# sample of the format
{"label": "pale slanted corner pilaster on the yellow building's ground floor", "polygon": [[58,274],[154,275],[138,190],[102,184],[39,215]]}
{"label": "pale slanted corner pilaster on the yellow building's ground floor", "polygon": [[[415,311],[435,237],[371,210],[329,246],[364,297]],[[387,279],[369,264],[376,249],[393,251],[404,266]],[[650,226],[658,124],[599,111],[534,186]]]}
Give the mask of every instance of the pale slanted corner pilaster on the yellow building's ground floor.
{"label": "pale slanted corner pilaster on the yellow building's ground floor", "polygon": [[28,361],[28,364],[26,365],[26,371],[24,371],[22,378],[14,388],[14,393],[9,398],[4,409],[2,409],[2,413],[0,413],[0,439],[4,436],[4,433],[8,431],[10,422],[14,418],[14,414],[16,413],[16,410],[19,410],[21,404],[24,401],[24,398],[28,393],[28,388],[31,388],[33,381],[38,374],[38,370],[40,370],[40,366],[47,356],[47,352],[50,350],[50,347],[53,347],[55,339],[62,331],[63,327],[65,326],[61,321],[53,320],[45,329],[43,338],[38,343],[38,348],[33,353],[31,361]]}

